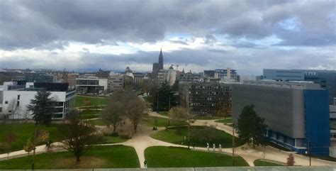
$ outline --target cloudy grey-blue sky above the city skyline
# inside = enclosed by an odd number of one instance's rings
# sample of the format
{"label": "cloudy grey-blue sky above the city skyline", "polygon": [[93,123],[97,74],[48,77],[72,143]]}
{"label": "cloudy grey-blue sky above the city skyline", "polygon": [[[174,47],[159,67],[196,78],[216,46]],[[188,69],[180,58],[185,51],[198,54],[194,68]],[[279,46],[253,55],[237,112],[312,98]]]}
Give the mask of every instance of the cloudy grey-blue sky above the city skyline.
{"label": "cloudy grey-blue sky above the city skyline", "polygon": [[[0,0],[0,68],[336,70],[336,1]],[[177,67],[177,65],[179,67]]]}

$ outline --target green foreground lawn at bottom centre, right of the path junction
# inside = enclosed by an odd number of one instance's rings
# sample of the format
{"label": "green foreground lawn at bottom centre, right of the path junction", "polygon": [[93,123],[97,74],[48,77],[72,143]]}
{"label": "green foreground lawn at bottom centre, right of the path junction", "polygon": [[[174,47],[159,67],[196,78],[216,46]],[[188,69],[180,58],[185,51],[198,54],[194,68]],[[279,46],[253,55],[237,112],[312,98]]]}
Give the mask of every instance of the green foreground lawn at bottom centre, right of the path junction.
{"label": "green foreground lawn at bottom centre, right of the path junction", "polygon": [[[177,147],[146,148],[145,158],[147,167],[223,167],[233,165],[233,158],[230,155]],[[235,157],[235,166],[248,166],[248,164],[244,159]]]}

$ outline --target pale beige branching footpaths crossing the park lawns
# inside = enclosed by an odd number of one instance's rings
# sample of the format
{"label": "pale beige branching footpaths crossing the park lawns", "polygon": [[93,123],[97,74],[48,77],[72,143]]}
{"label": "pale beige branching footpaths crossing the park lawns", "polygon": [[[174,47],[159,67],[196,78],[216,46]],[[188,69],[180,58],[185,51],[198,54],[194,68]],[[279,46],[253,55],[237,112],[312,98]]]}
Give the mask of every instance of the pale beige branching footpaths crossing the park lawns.
{"label": "pale beige branching footpaths crossing the park lawns", "polygon": [[[157,114],[156,112],[150,112],[150,116],[157,116],[162,118],[167,118],[167,116],[162,116],[160,114]],[[232,128],[230,126],[226,126],[223,123],[216,123],[215,120],[197,120],[193,125],[207,125],[207,126],[216,126],[219,130],[225,131],[227,133],[232,134]],[[159,128],[159,130],[162,130],[164,128]],[[148,126],[138,126],[138,133],[133,134],[133,138],[130,140],[127,140],[123,143],[115,143],[115,144],[105,144],[105,145],[130,145],[133,148],[135,148],[135,151],[138,155],[140,167],[145,167],[143,162],[145,161],[145,149],[150,146],[176,146],[176,147],[186,147],[186,145],[176,145],[172,143],[167,143],[161,140],[155,140],[150,137],[150,133],[153,133],[152,129]],[[45,152],[45,145],[40,145],[37,147],[37,153],[44,153]],[[203,150],[206,151],[206,148],[195,148],[195,150]],[[218,149],[216,149],[218,150]],[[232,153],[232,148],[223,148],[223,153],[226,153],[230,155]],[[11,158],[20,157],[22,155],[26,155],[27,153],[24,150],[16,151],[13,153],[10,153],[9,156]],[[241,147],[235,148],[235,154],[240,155],[242,158],[244,158],[247,163],[250,166],[254,166],[253,162],[257,159],[268,159],[268,160],[274,160],[278,162],[286,162],[286,158],[289,156],[289,152],[285,152],[282,150],[278,150],[276,148],[272,148],[270,146],[267,146],[265,148],[257,147],[255,149],[250,148],[248,145],[242,145]],[[296,165],[309,165],[309,158],[303,155],[296,155],[294,154]],[[7,154],[1,154],[0,160],[4,160],[7,158]],[[336,166],[335,162],[330,162],[326,160],[320,160],[317,158],[312,158],[312,165],[332,165]]]}

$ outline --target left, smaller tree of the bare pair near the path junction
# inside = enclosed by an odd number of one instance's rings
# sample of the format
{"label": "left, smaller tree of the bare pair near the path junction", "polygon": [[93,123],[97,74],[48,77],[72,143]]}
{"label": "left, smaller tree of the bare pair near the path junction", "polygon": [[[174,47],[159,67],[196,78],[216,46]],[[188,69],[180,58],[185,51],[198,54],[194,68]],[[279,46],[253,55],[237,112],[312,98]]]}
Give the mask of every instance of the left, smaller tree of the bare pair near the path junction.
{"label": "left, smaller tree of the bare pair near the path junction", "polygon": [[126,114],[125,105],[121,101],[111,101],[104,111],[101,113],[101,118],[113,126],[113,133],[123,121],[123,116]]}

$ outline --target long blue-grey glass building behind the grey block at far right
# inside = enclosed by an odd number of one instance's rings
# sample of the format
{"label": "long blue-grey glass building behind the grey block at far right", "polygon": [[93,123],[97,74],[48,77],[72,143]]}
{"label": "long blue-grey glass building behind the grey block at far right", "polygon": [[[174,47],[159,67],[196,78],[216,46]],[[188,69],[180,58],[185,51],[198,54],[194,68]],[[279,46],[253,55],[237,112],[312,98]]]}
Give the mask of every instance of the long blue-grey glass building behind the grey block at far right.
{"label": "long blue-grey glass building behind the grey block at far right", "polygon": [[271,70],[264,69],[263,79],[276,81],[312,81],[329,91],[329,104],[336,97],[336,70]]}

